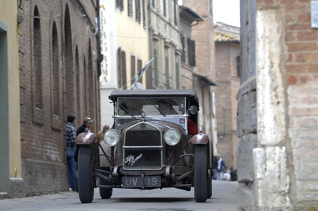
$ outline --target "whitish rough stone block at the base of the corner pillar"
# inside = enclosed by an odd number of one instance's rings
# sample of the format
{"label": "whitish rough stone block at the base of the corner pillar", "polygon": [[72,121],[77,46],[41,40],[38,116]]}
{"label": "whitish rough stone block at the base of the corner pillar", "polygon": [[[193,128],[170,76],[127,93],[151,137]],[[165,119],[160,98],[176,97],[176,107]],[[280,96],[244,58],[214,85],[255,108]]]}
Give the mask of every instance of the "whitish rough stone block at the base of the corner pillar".
{"label": "whitish rough stone block at the base of the corner pillar", "polygon": [[253,149],[257,204],[290,206],[287,154],[284,146]]}

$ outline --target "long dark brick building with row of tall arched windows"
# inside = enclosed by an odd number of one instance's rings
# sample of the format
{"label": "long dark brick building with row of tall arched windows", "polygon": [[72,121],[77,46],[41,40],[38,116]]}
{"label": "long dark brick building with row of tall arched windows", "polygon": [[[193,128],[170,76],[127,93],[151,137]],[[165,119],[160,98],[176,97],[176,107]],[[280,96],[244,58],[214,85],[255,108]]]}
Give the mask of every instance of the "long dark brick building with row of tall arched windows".
{"label": "long dark brick building with row of tall arched windows", "polygon": [[[21,162],[24,196],[68,190],[66,116],[100,128],[99,1],[20,1]],[[18,125],[17,125],[18,127]]]}

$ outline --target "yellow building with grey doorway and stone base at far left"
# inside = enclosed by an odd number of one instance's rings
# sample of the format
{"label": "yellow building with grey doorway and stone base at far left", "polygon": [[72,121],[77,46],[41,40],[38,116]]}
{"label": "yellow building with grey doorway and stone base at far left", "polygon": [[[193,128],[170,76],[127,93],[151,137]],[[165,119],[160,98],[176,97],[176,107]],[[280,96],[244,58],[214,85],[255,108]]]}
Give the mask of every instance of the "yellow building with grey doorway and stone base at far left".
{"label": "yellow building with grey doorway and stone base at far left", "polygon": [[17,1],[0,1],[0,199],[23,196],[18,51],[22,16],[17,11]]}

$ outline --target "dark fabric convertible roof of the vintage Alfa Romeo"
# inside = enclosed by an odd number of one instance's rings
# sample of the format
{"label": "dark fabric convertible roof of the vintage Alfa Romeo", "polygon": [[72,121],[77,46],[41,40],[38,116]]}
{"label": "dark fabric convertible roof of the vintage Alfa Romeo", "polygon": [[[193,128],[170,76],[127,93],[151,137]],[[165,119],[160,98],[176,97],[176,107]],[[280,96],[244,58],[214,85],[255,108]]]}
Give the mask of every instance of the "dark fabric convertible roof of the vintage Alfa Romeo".
{"label": "dark fabric convertible roof of the vintage Alfa Romeo", "polygon": [[198,103],[197,94],[191,89],[114,90],[110,93],[108,98],[114,101],[118,97],[188,97],[192,98],[192,100],[195,100],[196,103]]}

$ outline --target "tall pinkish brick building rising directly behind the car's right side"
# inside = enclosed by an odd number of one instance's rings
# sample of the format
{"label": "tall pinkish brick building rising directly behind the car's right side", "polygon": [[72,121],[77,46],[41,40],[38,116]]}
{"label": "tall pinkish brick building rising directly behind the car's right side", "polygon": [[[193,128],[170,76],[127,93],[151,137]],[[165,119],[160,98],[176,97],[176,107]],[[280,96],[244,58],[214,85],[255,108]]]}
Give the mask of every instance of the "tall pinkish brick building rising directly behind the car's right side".
{"label": "tall pinkish brick building rising directly behind the car's right side", "polygon": [[196,91],[200,111],[198,112],[198,129],[207,134],[213,140],[213,153],[217,153],[216,143],[217,125],[215,112],[215,44],[214,44],[214,24],[212,16],[211,0],[183,0],[183,6],[191,8],[204,21],[194,21],[191,26],[191,46],[195,49],[196,72],[193,73],[193,90]]}

